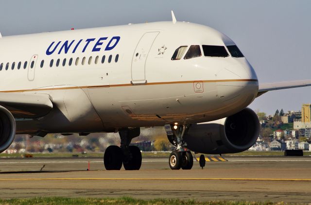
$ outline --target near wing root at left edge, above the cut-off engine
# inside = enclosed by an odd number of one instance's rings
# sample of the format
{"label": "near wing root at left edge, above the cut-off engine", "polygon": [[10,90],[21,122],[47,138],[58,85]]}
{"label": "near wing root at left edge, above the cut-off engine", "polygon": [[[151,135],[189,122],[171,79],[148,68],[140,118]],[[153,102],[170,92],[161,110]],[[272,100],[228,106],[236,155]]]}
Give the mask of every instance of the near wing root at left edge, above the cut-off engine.
{"label": "near wing root at left edge, above the cut-off engine", "polygon": [[53,108],[50,95],[23,93],[0,93],[0,106],[20,118],[42,117]]}

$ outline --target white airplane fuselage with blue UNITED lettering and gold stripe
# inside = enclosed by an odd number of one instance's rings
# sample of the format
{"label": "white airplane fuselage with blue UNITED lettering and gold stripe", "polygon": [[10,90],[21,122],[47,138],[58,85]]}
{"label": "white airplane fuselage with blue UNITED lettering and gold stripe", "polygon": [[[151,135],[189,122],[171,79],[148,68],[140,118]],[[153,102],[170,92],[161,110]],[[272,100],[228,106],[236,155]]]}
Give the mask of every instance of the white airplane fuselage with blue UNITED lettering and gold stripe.
{"label": "white airplane fuselage with blue UNITED lettering and gold stripe", "polygon": [[[199,45],[202,56],[184,59],[191,45]],[[202,45],[234,42],[207,26],[184,22],[2,37],[0,92],[51,96],[52,111],[17,119],[17,134],[193,124],[247,107],[258,93],[252,66],[226,47],[228,57],[206,57]],[[180,46],[187,46],[182,58],[171,60]]]}

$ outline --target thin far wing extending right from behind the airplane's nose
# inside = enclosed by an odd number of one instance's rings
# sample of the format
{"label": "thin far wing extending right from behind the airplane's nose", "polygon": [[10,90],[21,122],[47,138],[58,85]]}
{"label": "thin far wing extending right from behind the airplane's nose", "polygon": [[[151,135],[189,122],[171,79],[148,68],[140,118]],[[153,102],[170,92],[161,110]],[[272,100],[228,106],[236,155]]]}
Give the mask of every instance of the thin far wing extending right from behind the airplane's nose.
{"label": "thin far wing extending right from behind the airplane's nose", "polygon": [[272,82],[272,83],[262,83],[259,84],[259,90],[257,97],[268,91],[288,89],[288,88],[298,88],[311,86],[311,80],[295,80],[295,81],[285,81],[285,82]]}

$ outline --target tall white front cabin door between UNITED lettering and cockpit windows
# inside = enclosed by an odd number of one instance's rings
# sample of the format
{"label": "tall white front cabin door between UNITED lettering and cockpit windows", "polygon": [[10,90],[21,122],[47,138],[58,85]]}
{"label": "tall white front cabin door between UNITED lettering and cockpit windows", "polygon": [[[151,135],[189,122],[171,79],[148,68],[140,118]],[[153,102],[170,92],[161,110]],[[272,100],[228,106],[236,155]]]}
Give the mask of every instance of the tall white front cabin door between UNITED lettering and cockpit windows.
{"label": "tall white front cabin door between UNITED lettering and cockpit windows", "polygon": [[149,51],[159,32],[147,32],[140,38],[132,59],[132,84],[146,83],[145,65]]}

